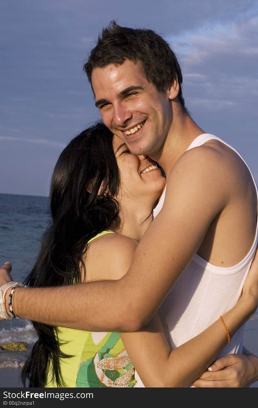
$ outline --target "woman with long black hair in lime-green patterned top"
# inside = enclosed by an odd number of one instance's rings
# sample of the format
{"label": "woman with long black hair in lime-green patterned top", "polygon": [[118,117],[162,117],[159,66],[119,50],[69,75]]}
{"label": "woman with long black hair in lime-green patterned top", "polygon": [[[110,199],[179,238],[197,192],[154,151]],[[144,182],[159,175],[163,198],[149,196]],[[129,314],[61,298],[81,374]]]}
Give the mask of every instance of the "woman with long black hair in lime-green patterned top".
{"label": "woman with long black hair in lime-green patterned top", "polygon": [[[53,172],[53,222],[26,284],[119,279],[151,223],[153,202],[164,185],[160,169],[145,157],[131,155],[103,124],[83,131],[61,153]],[[230,335],[253,313],[253,304],[244,291],[224,315]],[[119,307],[112,294],[110,307]],[[24,385],[29,378],[30,387],[132,387],[133,365],[145,386],[187,386],[227,344],[220,321],[172,352],[157,316],[144,330],[123,333],[122,339],[118,333],[33,325],[39,339],[22,372]]]}

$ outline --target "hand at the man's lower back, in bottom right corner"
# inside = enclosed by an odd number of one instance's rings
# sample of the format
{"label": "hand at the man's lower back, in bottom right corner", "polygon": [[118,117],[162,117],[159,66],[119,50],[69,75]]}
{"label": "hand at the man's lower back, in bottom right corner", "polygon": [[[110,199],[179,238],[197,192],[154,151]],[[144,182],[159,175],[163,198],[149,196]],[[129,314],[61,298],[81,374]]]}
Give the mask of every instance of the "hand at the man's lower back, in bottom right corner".
{"label": "hand at the man's lower back, in bottom right corner", "polygon": [[195,387],[249,387],[258,381],[258,357],[249,352],[228,354],[215,361],[199,379],[193,382]]}

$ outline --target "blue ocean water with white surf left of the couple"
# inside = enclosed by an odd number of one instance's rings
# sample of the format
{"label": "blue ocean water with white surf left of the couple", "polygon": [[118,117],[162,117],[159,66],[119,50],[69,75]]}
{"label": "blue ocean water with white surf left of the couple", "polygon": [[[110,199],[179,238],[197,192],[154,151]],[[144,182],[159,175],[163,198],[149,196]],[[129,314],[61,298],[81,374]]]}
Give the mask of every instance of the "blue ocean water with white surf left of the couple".
{"label": "blue ocean water with white surf left of the couple", "polygon": [[[31,270],[50,221],[48,197],[0,194],[0,265],[12,263],[13,280],[22,282]],[[258,311],[252,319],[258,320]],[[36,339],[27,320],[0,322],[0,344],[26,341],[31,350]],[[28,355],[0,350],[0,368],[20,368]]]}

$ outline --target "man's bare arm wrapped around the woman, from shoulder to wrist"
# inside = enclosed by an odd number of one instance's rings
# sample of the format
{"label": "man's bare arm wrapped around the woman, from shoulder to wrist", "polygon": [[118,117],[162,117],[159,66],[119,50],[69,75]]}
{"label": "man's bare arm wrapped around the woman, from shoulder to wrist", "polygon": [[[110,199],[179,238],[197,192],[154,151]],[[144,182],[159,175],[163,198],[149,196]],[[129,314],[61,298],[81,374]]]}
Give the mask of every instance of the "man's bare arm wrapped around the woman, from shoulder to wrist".
{"label": "man's bare arm wrapped around the woman, from shoulder to wrist", "polygon": [[[58,288],[18,288],[16,314],[93,331],[135,331],[149,322],[229,201],[223,162],[211,149],[205,154],[202,149],[186,152],[174,166],[162,211],[142,237],[124,277]],[[114,298],[119,307],[110,308]]]}

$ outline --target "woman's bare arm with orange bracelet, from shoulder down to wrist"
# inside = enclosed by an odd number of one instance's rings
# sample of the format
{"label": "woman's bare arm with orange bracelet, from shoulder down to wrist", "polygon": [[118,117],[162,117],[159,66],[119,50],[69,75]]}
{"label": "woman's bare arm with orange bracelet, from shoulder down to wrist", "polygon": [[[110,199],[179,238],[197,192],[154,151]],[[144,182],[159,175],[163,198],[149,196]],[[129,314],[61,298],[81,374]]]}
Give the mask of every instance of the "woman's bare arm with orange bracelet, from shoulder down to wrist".
{"label": "woman's bare arm with orange bracelet, from shoulder down to wrist", "polygon": [[[135,241],[121,235],[96,239],[87,251],[86,280],[119,279],[121,275],[114,271],[126,273],[135,248]],[[118,265],[120,268],[114,268]],[[223,316],[231,336],[249,317],[248,310],[249,303],[242,300],[234,310]],[[142,330],[121,333],[121,337],[146,387],[184,387],[191,384],[227,344],[225,327],[218,319],[203,333],[171,351],[157,314]],[[244,375],[243,370],[240,374]]]}

